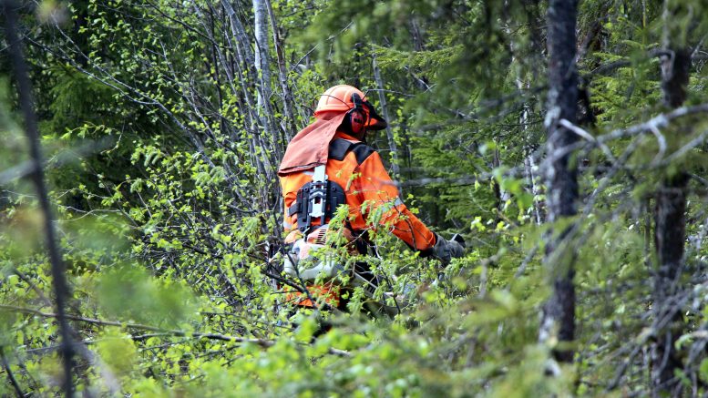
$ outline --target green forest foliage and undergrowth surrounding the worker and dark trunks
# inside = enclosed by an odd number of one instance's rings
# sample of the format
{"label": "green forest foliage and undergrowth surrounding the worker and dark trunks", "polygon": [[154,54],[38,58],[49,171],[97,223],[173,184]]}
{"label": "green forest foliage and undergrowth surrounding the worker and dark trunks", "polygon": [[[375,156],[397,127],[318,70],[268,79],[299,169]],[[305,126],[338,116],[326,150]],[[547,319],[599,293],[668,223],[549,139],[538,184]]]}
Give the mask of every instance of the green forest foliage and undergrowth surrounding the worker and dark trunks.
{"label": "green forest foliage and undergrowth surrounding the worker and dark trunks", "polygon": [[[656,333],[652,196],[682,170],[694,177],[676,348],[682,383],[705,393],[695,382],[708,383],[704,113],[580,148],[579,215],[541,226],[545,3],[273,0],[282,42],[269,31],[265,99],[263,71],[247,54],[251,3],[231,5],[235,16],[225,4],[43,2],[45,19],[52,10],[68,18],[45,25],[23,10],[72,288],[67,313],[82,348],[78,392],[645,395],[642,355]],[[688,104],[706,101],[705,6],[668,4],[681,12],[665,20],[660,2],[580,2],[578,68],[592,114],[582,128],[591,138],[664,111],[653,52],[667,31],[695,48]],[[51,396],[63,372],[55,293],[8,73],[0,58],[0,349],[9,363],[0,374]],[[345,311],[298,310],[284,294],[302,283],[281,272],[276,169],[289,124],[307,125],[318,96],[340,83],[368,91],[379,110],[383,90],[398,152],[385,132],[369,143],[388,164],[398,159],[407,207],[446,237],[462,232],[467,250],[447,265],[424,259],[378,225],[388,208],[369,209],[377,255],[318,254],[369,264],[384,281],[375,300],[350,286]],[[333,241],[344,240],[347,214],[332,221]],[[556,238],[570,227],[555,252],[574,259],[578,291],[575,361],[558,369],[560,343],[538,342],[552,227]],[[4,379],[0,395],[13,393]]]}

